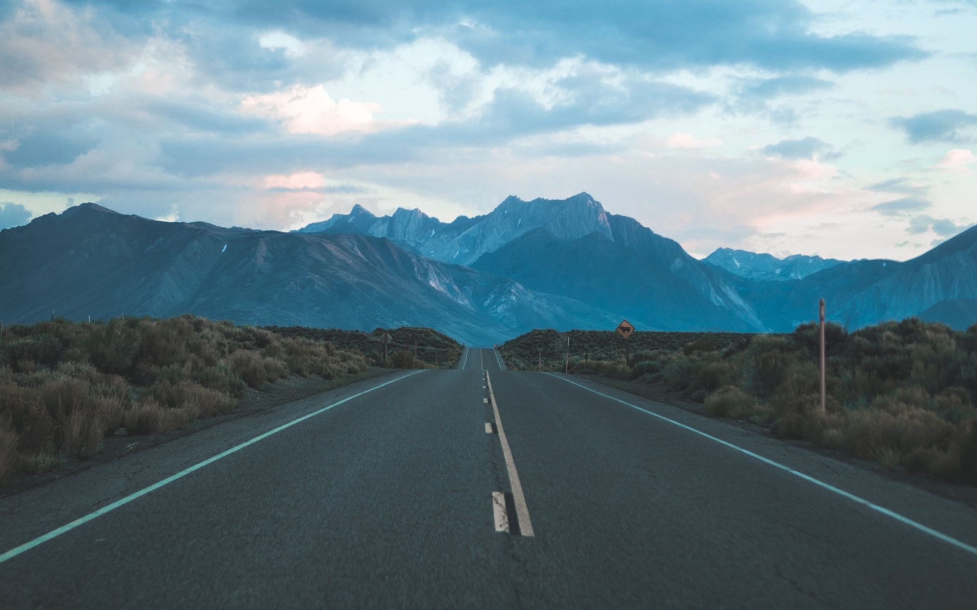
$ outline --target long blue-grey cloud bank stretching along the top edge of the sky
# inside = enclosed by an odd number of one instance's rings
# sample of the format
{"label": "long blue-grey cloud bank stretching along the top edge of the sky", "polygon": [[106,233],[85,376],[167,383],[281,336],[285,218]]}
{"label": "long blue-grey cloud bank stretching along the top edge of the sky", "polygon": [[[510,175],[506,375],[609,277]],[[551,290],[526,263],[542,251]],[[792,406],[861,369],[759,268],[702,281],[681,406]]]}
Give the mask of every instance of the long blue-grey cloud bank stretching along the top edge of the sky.
{"label": "long blue-grey cloud bank stretching along the top edge of the sky", "polygon": [[[836,35],[816,33],[815,14],[795,0],[542,0],[531,5],[515,0],[405,0],[394,4],[382,0],[283,0],[213,3],[206,12],[183,3],[106,0],[86,4],[106,9],[101,12],[129,35],[146,32],[147,23],[173,35],[206,24],[230,31],[287,32],[301,38],[303,44],[309,38],[322,38],[358,49],[390,48],[433,35],[454,42],[488,65],[540,66],[583,56],[654,70],[749,64],[773,70],[827,68],[845,72],[927,56],[905,36],[877,36],[858,30]],[[243,47],[228,44],[233,41],[230,37],[216,38],[224,38],[215,41],[224,55],[213,54],[217,49],[207,45],[200,45],[193,53],[229,63],[247,53]],[[201,55],[208,52],[210,55]],[[259,56],[250,59],[261,61]]]}

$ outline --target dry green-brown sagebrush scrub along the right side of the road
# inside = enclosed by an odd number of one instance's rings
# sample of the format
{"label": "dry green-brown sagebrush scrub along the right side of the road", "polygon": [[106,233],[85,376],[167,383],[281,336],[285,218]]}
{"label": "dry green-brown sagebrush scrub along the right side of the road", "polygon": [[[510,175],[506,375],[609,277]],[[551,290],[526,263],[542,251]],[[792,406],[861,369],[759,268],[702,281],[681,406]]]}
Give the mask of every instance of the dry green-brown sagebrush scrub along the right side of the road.
{"label": "dry green-brown sagebrush scrub along the right side of the road", "polygon": [[[574,374],[664,386],[703,402],[713,417],[977,485],[977,325],[959,332],[911,318],[847,333],[829,323],[827,413],[820,410],[815,324],[782,335],[639,332],[629,363],[614,333],[589,333],[600,338],[586,359],[588,333],[570,333]],[[544,370],[563,371],[566,336],[533,331],[501,352],[511,369],[535,370],[548,346]]]}

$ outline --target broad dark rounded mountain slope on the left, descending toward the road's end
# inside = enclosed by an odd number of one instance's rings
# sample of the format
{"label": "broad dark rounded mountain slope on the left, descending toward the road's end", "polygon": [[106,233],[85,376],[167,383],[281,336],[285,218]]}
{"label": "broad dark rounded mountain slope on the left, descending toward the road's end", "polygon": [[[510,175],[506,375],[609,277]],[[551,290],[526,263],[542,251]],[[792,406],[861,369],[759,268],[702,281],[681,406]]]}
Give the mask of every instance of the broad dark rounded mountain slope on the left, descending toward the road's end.
{"label": "broad dark rounded mountain slope on the left, descending toward the road's end", "polygon": [[364,235],[161,223],[76,206],[0,232],[0,318],[193,312],[252,324],[430,326],[473,344],[613,316]]}

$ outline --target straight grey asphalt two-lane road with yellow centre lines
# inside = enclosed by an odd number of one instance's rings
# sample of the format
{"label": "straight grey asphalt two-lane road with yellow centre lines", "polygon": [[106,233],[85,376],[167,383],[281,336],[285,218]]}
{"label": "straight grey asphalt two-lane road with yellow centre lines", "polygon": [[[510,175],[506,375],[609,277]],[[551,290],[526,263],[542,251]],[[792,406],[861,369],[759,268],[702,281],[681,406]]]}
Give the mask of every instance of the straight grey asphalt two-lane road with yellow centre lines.
{"label": "straight grey asphalt two-lane road with yellow centre lines", "polygon": [[974,607],[974,509],[497,356],[0,499],[0,607]]}

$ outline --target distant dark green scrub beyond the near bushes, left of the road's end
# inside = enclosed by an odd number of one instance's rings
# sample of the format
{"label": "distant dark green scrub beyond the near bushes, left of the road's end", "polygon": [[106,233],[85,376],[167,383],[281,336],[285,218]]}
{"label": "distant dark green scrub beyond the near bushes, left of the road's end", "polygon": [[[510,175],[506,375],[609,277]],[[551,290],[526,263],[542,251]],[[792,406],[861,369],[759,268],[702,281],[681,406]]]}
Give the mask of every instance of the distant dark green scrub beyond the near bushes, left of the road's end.
{"label": "distant dark green scrub beyond the near bushes, left of the road's end", "polygon": [[[335,328],[307,328],[304,326],[266,326],[267,330],[285,337],[303,337],[327,341],[343,349],[359,349],[366,358],[379,366],[399,369],[451,368],[464,351],[464,346],[447,335],[431,328],[403,326],[386,330],[377,328],[371,333],[346,331]],[[387,361],[383,359],[383,334],[390,334],[387,343]],[[414,346],[417,357],[414,357]],[[396,358],[395,353],[401,353]]]}

